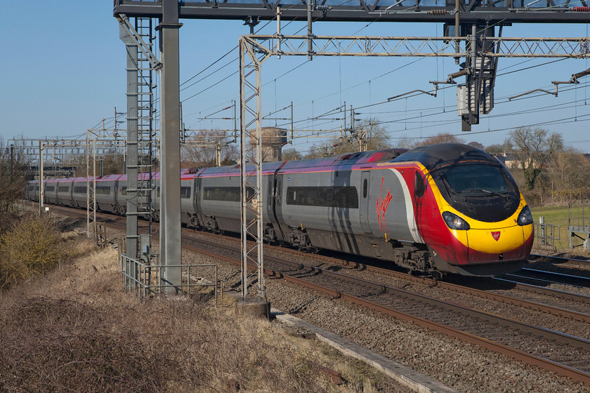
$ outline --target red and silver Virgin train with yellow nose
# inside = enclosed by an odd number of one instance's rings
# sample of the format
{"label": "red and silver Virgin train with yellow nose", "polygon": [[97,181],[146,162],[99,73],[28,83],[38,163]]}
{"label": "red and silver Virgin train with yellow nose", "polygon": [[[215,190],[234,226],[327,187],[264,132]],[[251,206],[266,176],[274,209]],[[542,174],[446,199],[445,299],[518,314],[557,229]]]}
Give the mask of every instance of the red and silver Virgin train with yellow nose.
{"label": "red and silver Virgin train with yellow nose", "polygon": [[[152,209],[159,212],[159,174]],[[265,241],[381,258],[413,272],[492,276],[523,266],[532,215],[509,171],[468,145],[263,164]],[[240,166],[181,172],[183,224],[240,232]],[[86,208],[86,178],[44,183],[48,204]],[[30,182],[29,199],[39,199]],[[126,175],[96,179],[99,211],[124,214]],[[147,198],[143,203],[147,203]]]}

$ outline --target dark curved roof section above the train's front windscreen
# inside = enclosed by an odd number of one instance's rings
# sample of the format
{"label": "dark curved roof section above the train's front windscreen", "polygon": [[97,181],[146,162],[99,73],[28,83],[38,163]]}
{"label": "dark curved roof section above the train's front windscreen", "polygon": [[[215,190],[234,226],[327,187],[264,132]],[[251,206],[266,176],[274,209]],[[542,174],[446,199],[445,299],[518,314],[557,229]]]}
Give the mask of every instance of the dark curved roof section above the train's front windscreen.
{"label": "dark curved roof section above the train's front windscreen", "polygon": [[500,165],[497,159],[483,150],[461,143],[417,147],[393,159],[393,162],[404,161],[419,161],[428,171],[464,161],[485,161]]}

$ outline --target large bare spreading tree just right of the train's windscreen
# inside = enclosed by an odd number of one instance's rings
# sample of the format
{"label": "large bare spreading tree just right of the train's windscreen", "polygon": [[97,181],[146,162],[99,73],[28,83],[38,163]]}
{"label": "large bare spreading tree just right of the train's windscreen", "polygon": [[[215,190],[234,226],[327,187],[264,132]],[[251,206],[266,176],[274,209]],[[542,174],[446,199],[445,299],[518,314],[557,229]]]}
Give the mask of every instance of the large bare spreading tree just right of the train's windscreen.
{"label": "large bare spreading tree just right of the train's windscreen", "polygon": [[563,151],[563,137],[560,133],[529,127],[517,128],[509,135],[504,149],[516,156],[527,189],[534,189],[537,178],[549,161]]}

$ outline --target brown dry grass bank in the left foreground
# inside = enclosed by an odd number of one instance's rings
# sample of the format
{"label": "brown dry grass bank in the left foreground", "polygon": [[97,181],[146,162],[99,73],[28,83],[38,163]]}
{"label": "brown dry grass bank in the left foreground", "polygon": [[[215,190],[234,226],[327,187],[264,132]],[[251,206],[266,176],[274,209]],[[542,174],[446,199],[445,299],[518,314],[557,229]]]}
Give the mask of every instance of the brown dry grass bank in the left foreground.
{"label": "brown dry grass bank in the left foreground", "polygon": [[[2,391],[388,391],[374,387],[378,374],[360,373],[367,369],[316,340],[235,317],[232,307],[191,298],[141,303],[123,291],[116,251],[89,251],[88,242],[72,250],[84,256],[3,293]],[[341,371],[346,383],[334,385],[313,364]]]}

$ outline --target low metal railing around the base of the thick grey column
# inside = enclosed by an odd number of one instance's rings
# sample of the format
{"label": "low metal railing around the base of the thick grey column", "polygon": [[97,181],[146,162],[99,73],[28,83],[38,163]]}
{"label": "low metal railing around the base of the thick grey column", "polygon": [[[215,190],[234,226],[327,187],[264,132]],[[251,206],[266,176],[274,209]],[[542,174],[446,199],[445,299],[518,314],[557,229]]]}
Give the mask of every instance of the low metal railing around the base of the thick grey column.
{"label": "low metal railing around the base of the thick grey column", "polygon": [[[217,275],[217,265],[147,265],[144,262],[128,258],[127,255],[119,255],[121,263],[121,275],[127,291],[137,291],[139,298],[146,296],[156,296],[161,293],[176,292],[186,295],[196,294],[204,287],[214,287],[215,305],[217,305],[217,293],[221,293],[223,288],[219,284]],[[166,283],[162,274],[165,269],[178,268],[182,269],[181,285]],[[207,280],[204,277],[197,276],[197,272],[209,270],[214,279]]]}

